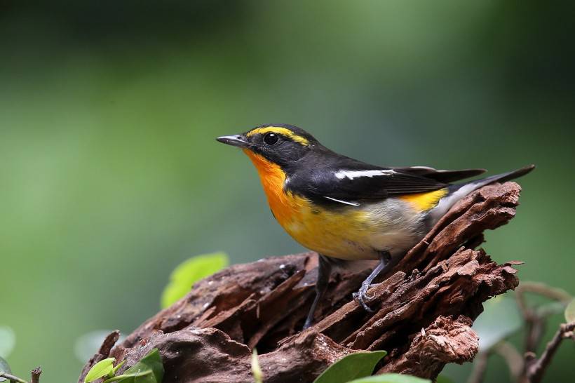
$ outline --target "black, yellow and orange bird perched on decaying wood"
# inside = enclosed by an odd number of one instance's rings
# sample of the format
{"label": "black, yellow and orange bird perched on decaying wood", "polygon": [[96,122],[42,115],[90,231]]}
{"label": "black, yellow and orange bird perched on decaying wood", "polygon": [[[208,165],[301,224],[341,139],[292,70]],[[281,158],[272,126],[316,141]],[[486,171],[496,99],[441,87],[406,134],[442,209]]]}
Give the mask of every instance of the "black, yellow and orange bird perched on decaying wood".
{"label": "black, yellow and orange bird perched on decaying wood", "polygon": [[217,141],[243,149],[255,166],[273,217],[305,248],[318,253],[313,323],[334,267],[379,260],[353,297],[366,310],[367,290],[381,272],[416,245],[457,201],[493,182],[525,175],[534,165],[452,183],[484,169],[375,166],[337,154],[304,129],[278,123]]}

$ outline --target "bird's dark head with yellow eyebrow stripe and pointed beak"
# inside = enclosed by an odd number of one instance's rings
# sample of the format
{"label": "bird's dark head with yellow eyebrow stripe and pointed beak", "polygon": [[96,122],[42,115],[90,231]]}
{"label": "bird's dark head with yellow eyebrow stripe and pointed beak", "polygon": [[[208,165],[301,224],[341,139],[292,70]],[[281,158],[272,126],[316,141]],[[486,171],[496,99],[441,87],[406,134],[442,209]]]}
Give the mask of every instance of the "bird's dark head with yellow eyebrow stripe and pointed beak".
{"label": "bird's dark head with yellow eyebrow stripe and pointed beak", "polygon": [[224,135],[216,140],[241,147],[254,162],[269,161],[281,168],[288,168],[319,145],[302,128],[285,124],[257,126],[245,133]]}

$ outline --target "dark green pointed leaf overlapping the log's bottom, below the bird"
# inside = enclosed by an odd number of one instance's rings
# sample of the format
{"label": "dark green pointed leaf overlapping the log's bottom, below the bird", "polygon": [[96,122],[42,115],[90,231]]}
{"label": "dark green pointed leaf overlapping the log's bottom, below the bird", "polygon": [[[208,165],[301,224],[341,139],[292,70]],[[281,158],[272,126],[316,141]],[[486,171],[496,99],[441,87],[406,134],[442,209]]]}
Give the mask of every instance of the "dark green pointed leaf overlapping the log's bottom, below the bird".
{"label": "dark green pointed leaf overlapping the log's bottom, below the bird", "polygon": [[330,365],[313,383],[346,383],[372,375],[375,365],[386,355],[386,351],[349,354]]}

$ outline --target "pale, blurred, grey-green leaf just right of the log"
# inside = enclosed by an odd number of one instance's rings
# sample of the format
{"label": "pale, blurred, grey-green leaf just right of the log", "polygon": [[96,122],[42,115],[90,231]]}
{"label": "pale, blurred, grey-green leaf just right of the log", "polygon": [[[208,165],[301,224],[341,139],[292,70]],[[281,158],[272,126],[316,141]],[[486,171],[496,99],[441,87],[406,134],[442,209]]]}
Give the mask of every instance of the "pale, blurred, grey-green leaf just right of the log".
{"label": "pale, blurred, grey-green leaf just right of the log", "polygon": [[499,295],[483,304],[484,311],[473,323],[473,330],[479,335],[480,351],[487,351],[495,344],[520,330],[523,318],[515,300],[508,295]]}

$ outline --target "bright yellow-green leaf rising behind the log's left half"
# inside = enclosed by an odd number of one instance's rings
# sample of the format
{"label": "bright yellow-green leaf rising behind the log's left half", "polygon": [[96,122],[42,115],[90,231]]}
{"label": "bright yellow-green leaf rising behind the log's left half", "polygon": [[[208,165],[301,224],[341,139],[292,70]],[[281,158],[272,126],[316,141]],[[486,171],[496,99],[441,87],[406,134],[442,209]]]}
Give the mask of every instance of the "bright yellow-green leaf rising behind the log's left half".
{"label": "bright yellow-green leaf rising behind the log's left half", "polygon": [[191,257],[172,271],[170,282],[165,286],[161,306],[163,309],[186,295],[194,282],[210,276],[228,265],[225,253],[212,253]]}

